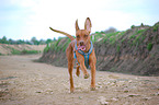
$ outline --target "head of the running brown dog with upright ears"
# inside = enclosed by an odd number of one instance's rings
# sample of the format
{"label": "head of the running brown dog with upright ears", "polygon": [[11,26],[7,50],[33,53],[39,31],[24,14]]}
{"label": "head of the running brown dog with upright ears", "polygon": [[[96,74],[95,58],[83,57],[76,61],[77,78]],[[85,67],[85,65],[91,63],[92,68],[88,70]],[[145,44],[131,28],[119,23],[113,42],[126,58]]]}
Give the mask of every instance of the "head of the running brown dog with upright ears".
{"label": "head of the running brown dog with upright ears", "polygon": [[86,50],[86,46],[90,44],[90,33],[91,33],[91,20],[87,18],[84,23],[84,30],[80,30],[78,26],[78,21],[76,21],[76,40],[78,49]]}

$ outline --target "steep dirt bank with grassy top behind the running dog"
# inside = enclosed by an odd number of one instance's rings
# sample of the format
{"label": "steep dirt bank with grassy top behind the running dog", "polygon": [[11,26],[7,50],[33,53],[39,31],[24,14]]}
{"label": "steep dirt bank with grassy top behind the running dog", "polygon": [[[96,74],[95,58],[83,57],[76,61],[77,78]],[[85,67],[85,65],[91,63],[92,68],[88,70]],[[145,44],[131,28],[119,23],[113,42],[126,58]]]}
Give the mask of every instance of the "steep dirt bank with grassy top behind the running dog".
{"label": "steep dirt bank with grassy top behind the running dog", "polygon": [[[159,22],[123,32],[92,34],[96,70],[137,75],[159,75]],[[91,36],[92,36],[91,35]],[[67,67],[66,48],[70,40],[59,38],[47,46],[41,61]]]}

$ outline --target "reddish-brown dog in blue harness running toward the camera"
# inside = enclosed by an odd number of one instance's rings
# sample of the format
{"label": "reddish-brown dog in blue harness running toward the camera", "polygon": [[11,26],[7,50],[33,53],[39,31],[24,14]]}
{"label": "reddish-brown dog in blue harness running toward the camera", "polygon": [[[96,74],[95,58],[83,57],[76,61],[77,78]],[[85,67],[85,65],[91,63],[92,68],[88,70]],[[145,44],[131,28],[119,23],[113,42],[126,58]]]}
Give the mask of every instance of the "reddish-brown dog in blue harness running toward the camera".
{"label": "reddish-brown dog in blue harness running toward the camera", "polygon": [[[67,47],[66,55],[68,59],[68,71],[70,74],[70,92],[73,92],[73,79],[72,79],[72,69],[75,63],[75,58],[77,59],[77,72],[76,74],[79,77],[80,71],[79,68],[81,68],[84,79],[88,79],[90,75],[87,71],[86,65],[88,63],[91,67],[91,90],[95,90],[95,63],[96,63],[96,57],[94,52],[93,45],[90,40],[90,33],[91,33],[91,21],[89,18],[87,18],[84,23],[84,30],[80,30],[78,26],[78,21],[76,21],[76,38],[73,38],[71,35],[53,30],[52,31],[65,34],[71,39],[71,43]],[[87,61],[88,60],[88,61]]]}

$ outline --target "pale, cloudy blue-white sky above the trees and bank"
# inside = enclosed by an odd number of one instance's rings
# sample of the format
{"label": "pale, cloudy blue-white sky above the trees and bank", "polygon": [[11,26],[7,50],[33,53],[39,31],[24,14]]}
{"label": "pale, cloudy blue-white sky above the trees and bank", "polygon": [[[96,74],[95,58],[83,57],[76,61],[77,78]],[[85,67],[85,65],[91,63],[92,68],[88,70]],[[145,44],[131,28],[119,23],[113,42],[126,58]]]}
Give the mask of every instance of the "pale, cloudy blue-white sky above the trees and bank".
{"label": "pale, cloudy blue-white sky above the trees and bank", "polygon": [[92,32],[113,26],[125,31],[132,25],[154,25],[159,22],[159,0],[0,0],[0,38],[12,39],[58,38],[75,36],[75,22],[84,27],[91,19]]}

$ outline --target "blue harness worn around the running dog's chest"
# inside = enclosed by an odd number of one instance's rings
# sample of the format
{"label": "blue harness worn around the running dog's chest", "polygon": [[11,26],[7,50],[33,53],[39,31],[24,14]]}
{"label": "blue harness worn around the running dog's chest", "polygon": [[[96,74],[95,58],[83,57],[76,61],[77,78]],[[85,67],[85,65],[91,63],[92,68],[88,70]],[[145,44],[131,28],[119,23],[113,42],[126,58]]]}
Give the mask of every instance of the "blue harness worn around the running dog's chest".
{"label": "blue harness worn around the running dog's chest", "polygon": [[[76,50],[78,49],[78,47],[77,47],[77,42],[76,42],[76,44],[75,44],[75,48],[76,48]],[[90,47],[90,49],[89,49],[88,52],[83,52],[83,51],[80,50],[80,49],[78,50],[79,54],[81,54],[82,56],[84,56],[84,65],[86,65],[87,68],[89,68],[89,57],[90,57],[90,54],[92,52],[92,50],[93,50],[93,44],[92,44],[92,42],[91,42],[91,47]],[[77,60],[76,51],[75,51],[73,57],[75,57],[76,60]]]}

